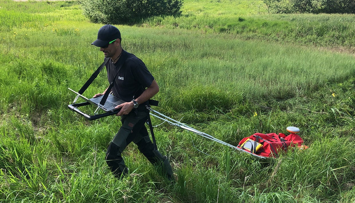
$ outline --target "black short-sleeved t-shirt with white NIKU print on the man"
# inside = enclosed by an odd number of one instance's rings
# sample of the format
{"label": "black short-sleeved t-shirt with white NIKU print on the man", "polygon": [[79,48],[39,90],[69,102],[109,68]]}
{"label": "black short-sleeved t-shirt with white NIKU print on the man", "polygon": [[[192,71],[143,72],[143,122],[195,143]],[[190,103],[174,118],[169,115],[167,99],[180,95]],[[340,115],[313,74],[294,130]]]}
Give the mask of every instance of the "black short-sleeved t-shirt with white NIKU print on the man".
{"label": "black short-sleeved t-shirt with white NIKU print on the man", "polygon": [[[123,65],[119,70],[111,91],[121,100],[130,102],[133,98],[139,97],[146,88],[152,85],[154,77],[142,60],[132,53],[122,50],[122,54],[116,63],[112,63],[111,58],[106,63],[107,77],[110,84],[122,63]],[[146,105],[148,105],[148,101],[140,104],[138,110],[145,109]]]}

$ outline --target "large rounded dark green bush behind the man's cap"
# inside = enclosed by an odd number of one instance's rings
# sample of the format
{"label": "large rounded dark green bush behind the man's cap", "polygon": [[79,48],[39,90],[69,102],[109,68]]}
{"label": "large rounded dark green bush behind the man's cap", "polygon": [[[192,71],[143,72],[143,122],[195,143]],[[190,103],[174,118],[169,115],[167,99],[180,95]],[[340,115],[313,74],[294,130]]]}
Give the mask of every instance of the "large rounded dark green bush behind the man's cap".
{"label": "large rounded dark green bush behind the man's cap", "polygon": [[181,14],[182,0],[82,0],[83,15],[94,23],[132,24],[152,16]]}

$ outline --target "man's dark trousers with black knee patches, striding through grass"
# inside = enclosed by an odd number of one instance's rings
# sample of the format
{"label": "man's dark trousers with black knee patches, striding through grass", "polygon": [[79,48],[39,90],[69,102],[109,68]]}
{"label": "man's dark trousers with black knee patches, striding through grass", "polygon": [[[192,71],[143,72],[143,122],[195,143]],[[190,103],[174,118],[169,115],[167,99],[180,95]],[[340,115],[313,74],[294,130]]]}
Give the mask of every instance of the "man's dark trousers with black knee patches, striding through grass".
{"label": "man's dark trousers with black knee patches, striding through grass", "polygon": [[154,145],[149,138],[147,128],[144,125],[148,116],[149,111],[132,111],[128,115],[121,116],[122,126],[106,152],[106,162],[115,176],[121,177],[128,174],[128,168],[121,154],[127,145],[133,141],[149,162],[158,167],[160,174],[169,180],[173,179],[173,171],[169,160],[154,149]]}

